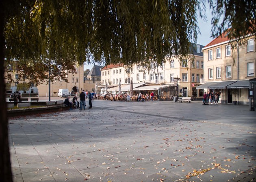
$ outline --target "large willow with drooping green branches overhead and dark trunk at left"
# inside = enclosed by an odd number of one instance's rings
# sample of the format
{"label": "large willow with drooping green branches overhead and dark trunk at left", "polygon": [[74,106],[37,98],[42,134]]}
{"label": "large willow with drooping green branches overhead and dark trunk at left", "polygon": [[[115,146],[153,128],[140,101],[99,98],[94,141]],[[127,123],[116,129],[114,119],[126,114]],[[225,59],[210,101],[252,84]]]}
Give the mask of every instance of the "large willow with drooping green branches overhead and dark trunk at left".
{"label": "large willow with drooping green branches overhead and dark trunk at left", "polygon": [[[255,34],[253,0],[209,0],[213,36]],[[74,65],[161,64],[186,56],[197,40],[197,11],[206,0],[1,0],[0,1],[0,176],[11,181],[4,66],[17,63],[22,77],[39,83],[65,79]],[[223,21],[219,18],[224,14]],[[5,60],[6,58],[6,60]],[[5,64],[5,65],[4,65]],[[52,77],[53,78],[53,77]]]}

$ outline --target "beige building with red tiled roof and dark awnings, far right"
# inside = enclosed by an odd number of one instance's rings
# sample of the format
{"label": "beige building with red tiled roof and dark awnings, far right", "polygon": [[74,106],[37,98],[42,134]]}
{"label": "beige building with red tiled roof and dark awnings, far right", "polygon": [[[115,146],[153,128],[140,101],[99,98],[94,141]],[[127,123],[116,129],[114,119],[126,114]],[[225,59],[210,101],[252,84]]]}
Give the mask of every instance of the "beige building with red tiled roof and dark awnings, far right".
{"label": "beige building with red tiled roof and dark awnings, far right", "polygon": [[255,35],[244,41],[230,41],[224,32],[202,49],[205,83],[198,89],[221,93],[221,103],[249,104],[249,80],[256,78]]}

